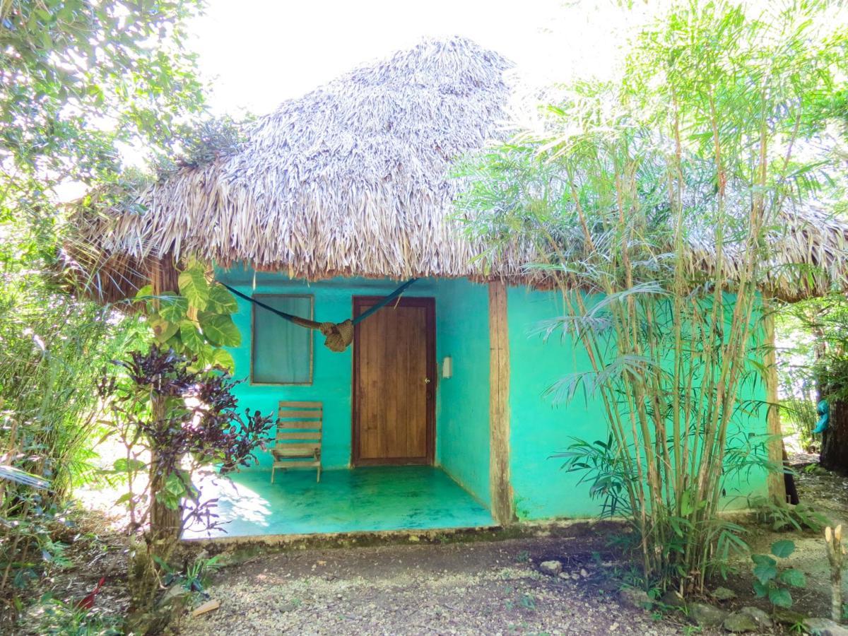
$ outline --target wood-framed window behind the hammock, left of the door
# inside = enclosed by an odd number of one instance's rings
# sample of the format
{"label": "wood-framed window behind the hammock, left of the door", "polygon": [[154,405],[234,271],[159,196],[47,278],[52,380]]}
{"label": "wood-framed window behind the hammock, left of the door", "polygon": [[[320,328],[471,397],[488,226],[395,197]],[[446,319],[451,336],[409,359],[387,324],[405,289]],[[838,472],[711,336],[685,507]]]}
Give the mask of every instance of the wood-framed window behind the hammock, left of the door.
{"label": "wood-framed window behind the hammock, left of the door", "polygon": [[[256,294],[254,298],[276,310],[312,319],[312,296]],[[253,305],[253,384],[311,384],[312,330]]]}

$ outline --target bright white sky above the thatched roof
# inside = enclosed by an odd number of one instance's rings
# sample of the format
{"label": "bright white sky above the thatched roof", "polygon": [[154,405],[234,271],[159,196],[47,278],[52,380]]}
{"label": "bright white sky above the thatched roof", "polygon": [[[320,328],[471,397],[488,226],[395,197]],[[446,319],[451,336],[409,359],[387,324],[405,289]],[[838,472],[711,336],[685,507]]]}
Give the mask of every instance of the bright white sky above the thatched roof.
{"label": "bright white sky above the thatched roof", "polygon": [[[648,9],[615,0],[208,0],[191,46],[215,114],[265,114],[424,36],[466,36],[543,79],[600,74]],[[656,6],[656,4],[654,5]]]}

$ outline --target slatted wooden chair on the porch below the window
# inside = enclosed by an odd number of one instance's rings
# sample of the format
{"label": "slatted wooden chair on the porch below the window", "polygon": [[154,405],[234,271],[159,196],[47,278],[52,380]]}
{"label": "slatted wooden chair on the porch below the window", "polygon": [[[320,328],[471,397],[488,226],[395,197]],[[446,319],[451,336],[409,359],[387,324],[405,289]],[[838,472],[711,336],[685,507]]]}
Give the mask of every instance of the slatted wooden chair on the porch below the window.
{"label": "slatted wooden chair on the porch below the window", "polygon": [[271,483],[278,468],[315,466],[321,481],[321,402],[280,402],[276,420],[276,444],[271,449]]}

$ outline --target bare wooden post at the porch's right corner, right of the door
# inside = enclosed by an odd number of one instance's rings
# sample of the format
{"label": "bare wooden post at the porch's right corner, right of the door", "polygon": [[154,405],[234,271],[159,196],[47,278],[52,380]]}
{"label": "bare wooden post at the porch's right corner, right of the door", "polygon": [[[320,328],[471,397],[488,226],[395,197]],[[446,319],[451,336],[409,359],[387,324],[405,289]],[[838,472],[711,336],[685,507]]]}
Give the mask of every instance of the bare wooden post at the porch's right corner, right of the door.
{"label": "bare wooden post at the porch's right corner, right of the door", "polygon": [[489,395],[488,482],[492,515],[502,526],[515,521],[510,483],[510,340],[506,284],[488,285]]}

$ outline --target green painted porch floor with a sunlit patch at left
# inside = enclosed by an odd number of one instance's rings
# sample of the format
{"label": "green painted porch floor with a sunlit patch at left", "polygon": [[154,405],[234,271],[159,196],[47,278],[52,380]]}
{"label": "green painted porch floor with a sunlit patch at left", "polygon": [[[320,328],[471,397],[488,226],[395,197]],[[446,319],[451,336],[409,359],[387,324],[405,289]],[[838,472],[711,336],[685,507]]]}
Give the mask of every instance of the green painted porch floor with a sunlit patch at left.
{"label": "green painted porch floor with a sunlit patch at left", "polygon": [[185,538],[267,534],[432,530],[494,525],[480,505],[432,466],[375,466],[324,471],[248,470],[198,483],[203,499],[218,499],[221,530]]}

